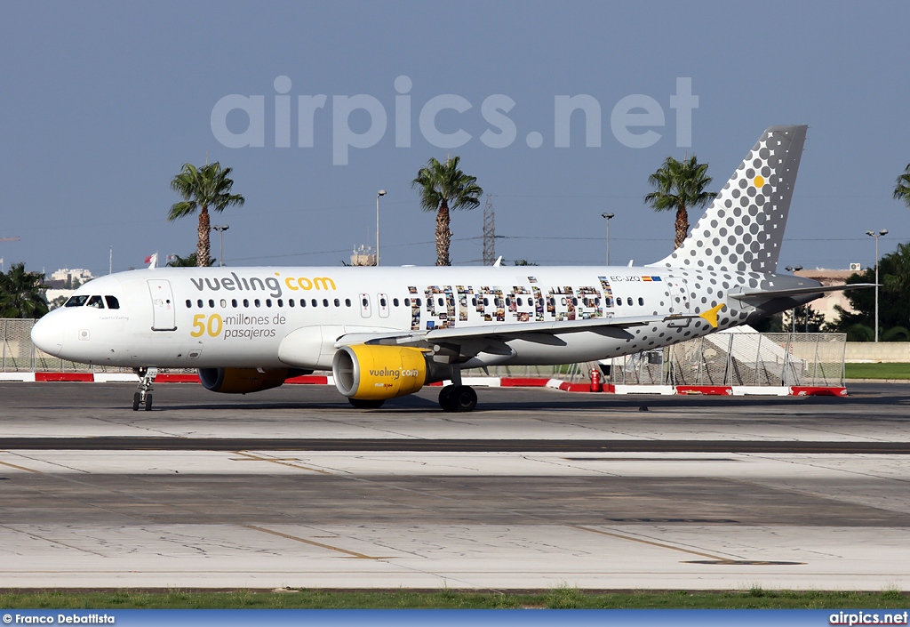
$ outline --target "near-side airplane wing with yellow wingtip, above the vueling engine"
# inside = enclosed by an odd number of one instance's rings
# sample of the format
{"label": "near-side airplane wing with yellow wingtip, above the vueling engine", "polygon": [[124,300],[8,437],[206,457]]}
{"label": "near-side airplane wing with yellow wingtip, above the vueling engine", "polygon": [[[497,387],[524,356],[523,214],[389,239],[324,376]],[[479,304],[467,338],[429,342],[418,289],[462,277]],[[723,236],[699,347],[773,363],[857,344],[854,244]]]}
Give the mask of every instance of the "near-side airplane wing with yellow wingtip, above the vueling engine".
{"label": "near-side airplane wing with yellow wingtip, above the vueling engine", "polygon": [[608,329],[625,329],[630,326],[662,323],[672,320],[703,318],[713,327],[717,327],[717,313],[724,307],[722,303],[703,314],[612,316],[608,318],[591,318],[586,320],[562,320],[554,322],[484,324],[482,326],[464,326],[420,331],[401,331],[388,333],[347,334],[339,338],[336,348],[353,344],[399,344],[405,346],[427,346],[436,343],[459,343],[469,340],[512,340],[528,339],[533,342],[547,342],[544,337],[561,334],[580,333]]}

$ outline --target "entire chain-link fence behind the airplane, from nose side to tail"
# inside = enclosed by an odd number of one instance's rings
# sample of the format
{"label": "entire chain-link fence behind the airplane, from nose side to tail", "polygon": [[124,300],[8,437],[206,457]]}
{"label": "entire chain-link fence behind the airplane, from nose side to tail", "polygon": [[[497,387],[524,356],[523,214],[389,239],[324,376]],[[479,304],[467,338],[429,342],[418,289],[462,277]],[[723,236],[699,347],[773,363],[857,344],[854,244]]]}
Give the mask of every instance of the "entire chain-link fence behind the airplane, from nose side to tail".
{"label": "entire chain-link fence behind the airplane, from nose side to tail", "polygon": [[[0,372],[129,373],[132,368],[77,364],[32,344],[34,320],[0,319]],[[622,385],[844,385],[844,334],[706,335],[666,348],[604,360],[610,380]],[[465,376],[541,377],[587,381],[597,363],[494,365]],[[194,372],[172,370],[169,372]]]}

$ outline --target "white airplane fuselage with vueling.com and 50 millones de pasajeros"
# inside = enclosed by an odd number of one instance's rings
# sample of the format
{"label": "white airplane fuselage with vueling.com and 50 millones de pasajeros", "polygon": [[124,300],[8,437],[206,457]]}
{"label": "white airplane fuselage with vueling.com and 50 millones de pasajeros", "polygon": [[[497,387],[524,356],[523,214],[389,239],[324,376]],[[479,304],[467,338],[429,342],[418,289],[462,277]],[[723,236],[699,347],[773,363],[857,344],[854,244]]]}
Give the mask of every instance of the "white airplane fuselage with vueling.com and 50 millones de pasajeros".
{"label": "white airplane fuselage with vueling.com and 50 millones de pasajeros", "polygon": [[[656,267],[161,268],[86,283],[76,295],[101,296],[102,307],[58,308],[36,324],[33,338],[47,353],[96,365],[329,368],[332,346],[346,334],[698,314],[726,303],[723,329],[754,313],[728,290],[786,278]],[[110,308],[107,296],[119,307]],[[289,334],[308,329],[321,348],[282,347]],[[509,351],[481,350],[464,365],[602,359],[713,331],[684,318],[531,334],[506,339]]]}

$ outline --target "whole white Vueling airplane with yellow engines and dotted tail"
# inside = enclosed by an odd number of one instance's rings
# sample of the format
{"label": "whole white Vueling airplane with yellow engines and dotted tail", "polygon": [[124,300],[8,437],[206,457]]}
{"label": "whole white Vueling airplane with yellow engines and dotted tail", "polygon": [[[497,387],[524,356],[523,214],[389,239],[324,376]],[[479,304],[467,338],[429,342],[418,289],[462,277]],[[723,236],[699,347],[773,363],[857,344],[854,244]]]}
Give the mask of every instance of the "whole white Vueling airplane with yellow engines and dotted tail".
{"label": "whole white Vueling airplane with yellow engines and dotted tail", "polygon": [[133,409],[158,368],[196,368],[247,394],[331,370],[352,406],[424,385],[447,412],[477,393],[461,370],[630,355],[809,303],[823,286],[776,273],[806,126],[767,128],[682,246],[645,266],[155,268],[80,286],[33,327],[42,351],[132,367]]}

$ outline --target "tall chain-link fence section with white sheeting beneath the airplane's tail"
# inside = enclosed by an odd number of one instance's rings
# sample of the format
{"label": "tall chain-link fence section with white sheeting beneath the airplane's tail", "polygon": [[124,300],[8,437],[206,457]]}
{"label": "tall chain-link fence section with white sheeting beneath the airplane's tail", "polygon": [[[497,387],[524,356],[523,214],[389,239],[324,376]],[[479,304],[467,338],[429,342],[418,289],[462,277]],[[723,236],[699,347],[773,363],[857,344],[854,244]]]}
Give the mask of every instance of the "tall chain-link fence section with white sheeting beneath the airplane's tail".
{"label": "tall chain-link fence section with white sheeting beneath the airplane's tail", "polygon": [[845,334],[718,333],[610,361],[622,385],[844,385]]}

